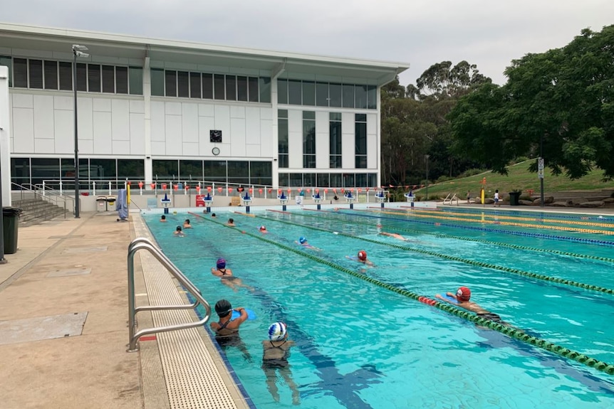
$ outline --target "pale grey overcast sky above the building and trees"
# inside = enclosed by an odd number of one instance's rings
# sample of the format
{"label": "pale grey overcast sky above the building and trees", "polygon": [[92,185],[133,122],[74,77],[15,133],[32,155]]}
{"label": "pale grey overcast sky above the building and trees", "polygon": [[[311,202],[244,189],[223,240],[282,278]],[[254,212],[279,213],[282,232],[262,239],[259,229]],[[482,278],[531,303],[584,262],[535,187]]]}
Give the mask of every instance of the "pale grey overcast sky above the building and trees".
{"label": "pale grey overcast sky above the building and trees", "polygon": [[503,84],[526,53],[614,24],[614,0],[6,0],[0,21],[409,63],[461,60]]}

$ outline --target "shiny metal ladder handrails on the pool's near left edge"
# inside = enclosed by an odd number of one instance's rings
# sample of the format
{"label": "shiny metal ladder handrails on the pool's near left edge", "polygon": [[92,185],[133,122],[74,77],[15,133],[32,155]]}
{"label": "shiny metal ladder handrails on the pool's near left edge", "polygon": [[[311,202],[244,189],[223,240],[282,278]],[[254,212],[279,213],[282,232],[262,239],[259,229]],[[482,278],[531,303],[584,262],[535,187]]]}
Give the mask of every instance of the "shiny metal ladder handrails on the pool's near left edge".
{"label": "shiny metal ladder handrails on the pool's near left edge", "polygon": [[[135,294],[135,263],[134,257],[135,253],[138,250],[147,250],[149,251],[164,267],[167,268],[168,272],[171,273],[173,277],[181,283],[185,287],[185,289],[194,296],[196,301],[193,304],[181,304],[181,305],[144,305],[141,307],[135,307],[136,305],[136,294]],[[159,311],[159,310],[169,310],[169,309],[194,309],[202,305],[205,309],[205,314],[200,321],[197,322],[188,322],[185,324],[175,324],[175,325],[167,325],[167,326],[158,326],[150,329],[141,329],[136,332],[136,315],[137,312],[140,311]],[[128,319],[129,319],[129,329],[130,329],[130,345],[128,346],[128,352],[138,351],[137,341],[143,335],[155,334],[157,332],[167,332],[167,331],[175,331],[176,329],[188,329],[195,328],[197,326],[202,326],[209,321],[209,317],[211,317],[211,306],[209,303],[202,297],[200,290],[197,287],[194,287],[192,282],[188,280],[188,278],[179,270],[169,258],[162,253],[162,251],[155,247],[155,245],[148,240],[147,238],[135,238],[128,245]]]}

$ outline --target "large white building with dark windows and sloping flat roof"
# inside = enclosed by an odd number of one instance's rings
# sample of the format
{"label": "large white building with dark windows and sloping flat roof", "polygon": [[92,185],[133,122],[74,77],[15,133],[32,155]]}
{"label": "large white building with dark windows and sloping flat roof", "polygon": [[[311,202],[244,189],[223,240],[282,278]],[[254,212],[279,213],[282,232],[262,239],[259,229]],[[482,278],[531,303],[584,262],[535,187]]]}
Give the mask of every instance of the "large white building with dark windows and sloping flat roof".
{"label": "large white building with dark windows and sloping flat roof", "polygon": [[16,184],[74,182],[73,58],[81,189],[127,179],[378,186],[380,87],[408,68],[0,24],[1,161]]}

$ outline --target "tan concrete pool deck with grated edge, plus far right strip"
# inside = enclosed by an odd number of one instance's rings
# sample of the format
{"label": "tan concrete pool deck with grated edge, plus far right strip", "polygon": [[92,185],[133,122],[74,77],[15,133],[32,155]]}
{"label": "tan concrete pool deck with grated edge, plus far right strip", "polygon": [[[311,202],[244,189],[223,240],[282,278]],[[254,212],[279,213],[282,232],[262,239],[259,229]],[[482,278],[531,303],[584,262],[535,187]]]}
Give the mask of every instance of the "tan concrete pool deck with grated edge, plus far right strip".
{"label": "tan concrete pool deck with grated edge, plus far right strip", "polygon": [[[600,208],[501,209],[614,215]],[[82,213],[19,229],[19,250],[0,264],[0,407],[249,408],[202,328],[147,336],[139,351],[126,351],[128,245],[149,233],[138,214],[129,222],[116,218]],[[142,251],[135,287],[138,305],[186,299]],[[142,312],[139,329],[197,319],[181,311]]]}

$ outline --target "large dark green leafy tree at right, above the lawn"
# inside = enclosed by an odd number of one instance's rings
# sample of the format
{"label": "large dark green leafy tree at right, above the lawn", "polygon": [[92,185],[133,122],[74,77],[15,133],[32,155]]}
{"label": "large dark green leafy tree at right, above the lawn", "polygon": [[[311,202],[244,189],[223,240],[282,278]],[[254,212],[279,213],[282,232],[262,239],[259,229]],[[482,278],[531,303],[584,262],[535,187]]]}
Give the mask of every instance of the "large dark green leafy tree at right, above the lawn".
{"label": "large dark green leafy tree at right, above the lawn", "polygon": [[[568,46],[514,60],[503,87],[465,95],[448,119],[454,152],[505,165],[543,152],[553,174],[572,179],[598,167],[614,176],[614,26],[582,31]],[[536,164],[532,165],[536,170]]]}

